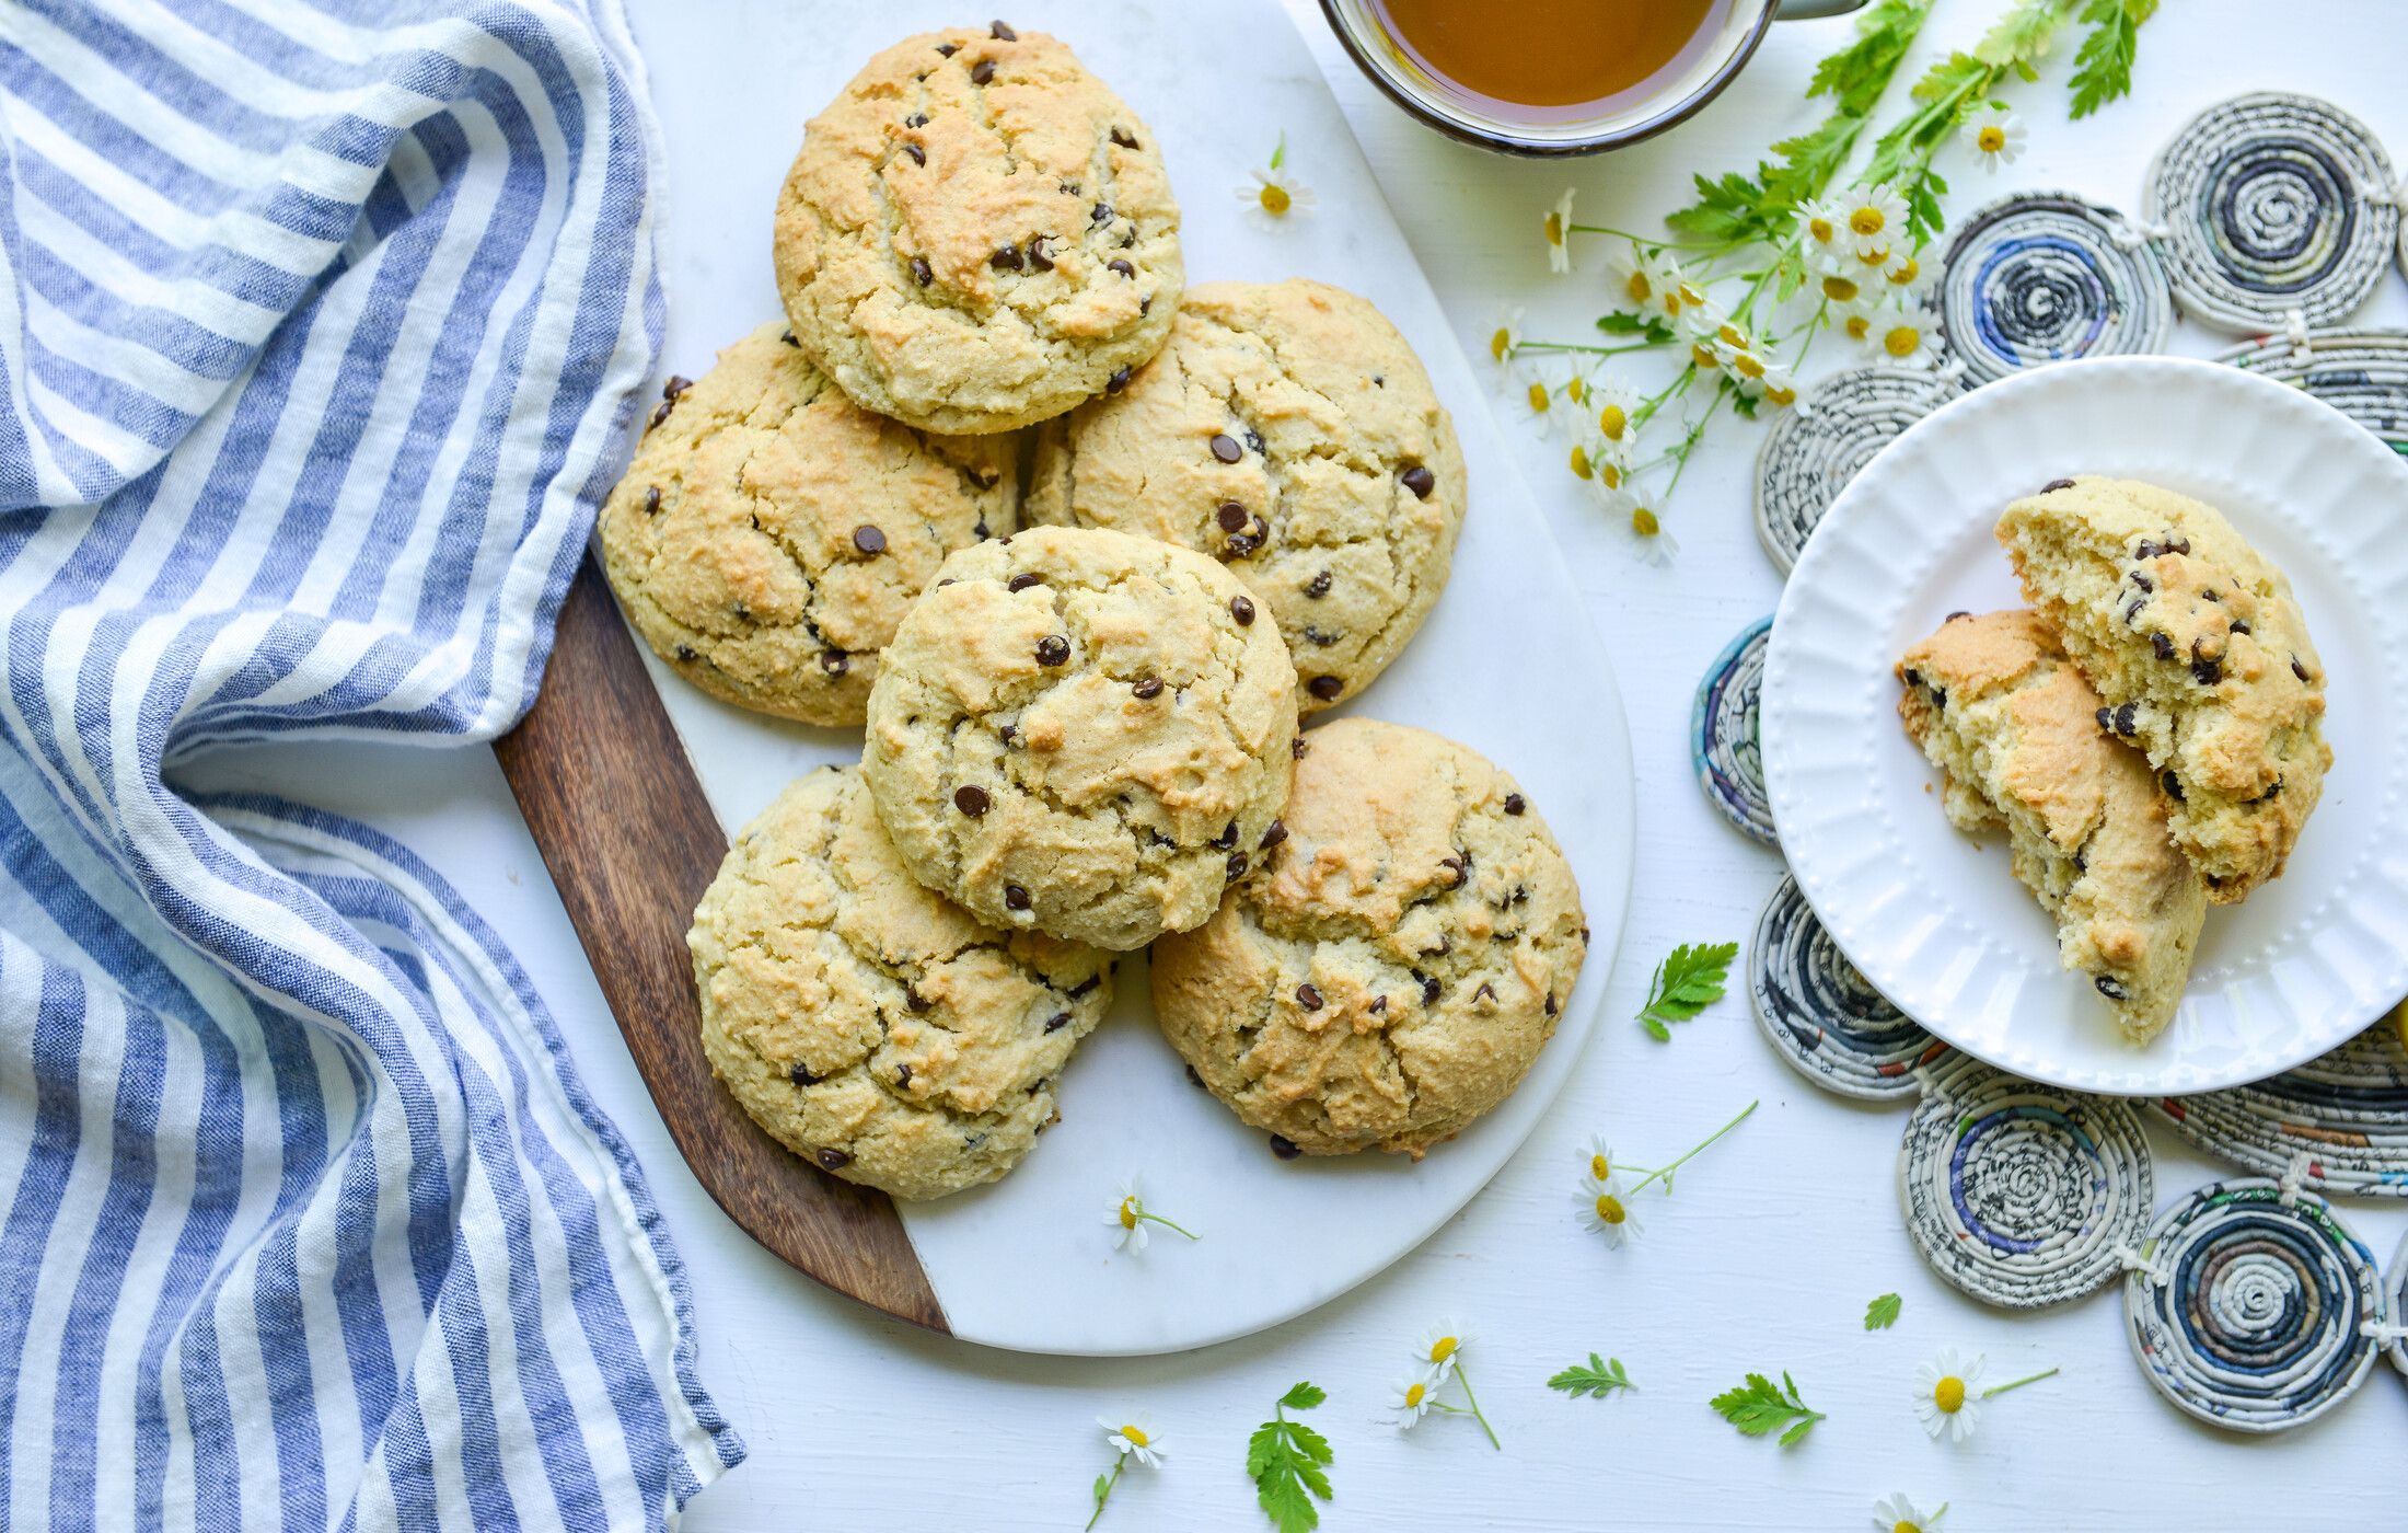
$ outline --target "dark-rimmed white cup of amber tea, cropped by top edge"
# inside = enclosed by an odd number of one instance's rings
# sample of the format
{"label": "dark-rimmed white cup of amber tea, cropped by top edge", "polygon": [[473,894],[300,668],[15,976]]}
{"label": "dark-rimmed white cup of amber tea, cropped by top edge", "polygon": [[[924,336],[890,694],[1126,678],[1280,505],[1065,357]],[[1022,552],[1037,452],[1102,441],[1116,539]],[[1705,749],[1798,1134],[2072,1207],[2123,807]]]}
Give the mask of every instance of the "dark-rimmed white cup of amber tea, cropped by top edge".
{"label": "dark-rimmed white cup of amber tea, cropped by top edge", "polygon": [[1775,19],[1864,0],[1322,0],[1346,53],[1450,137],[1594,154],[1688,121]]}

